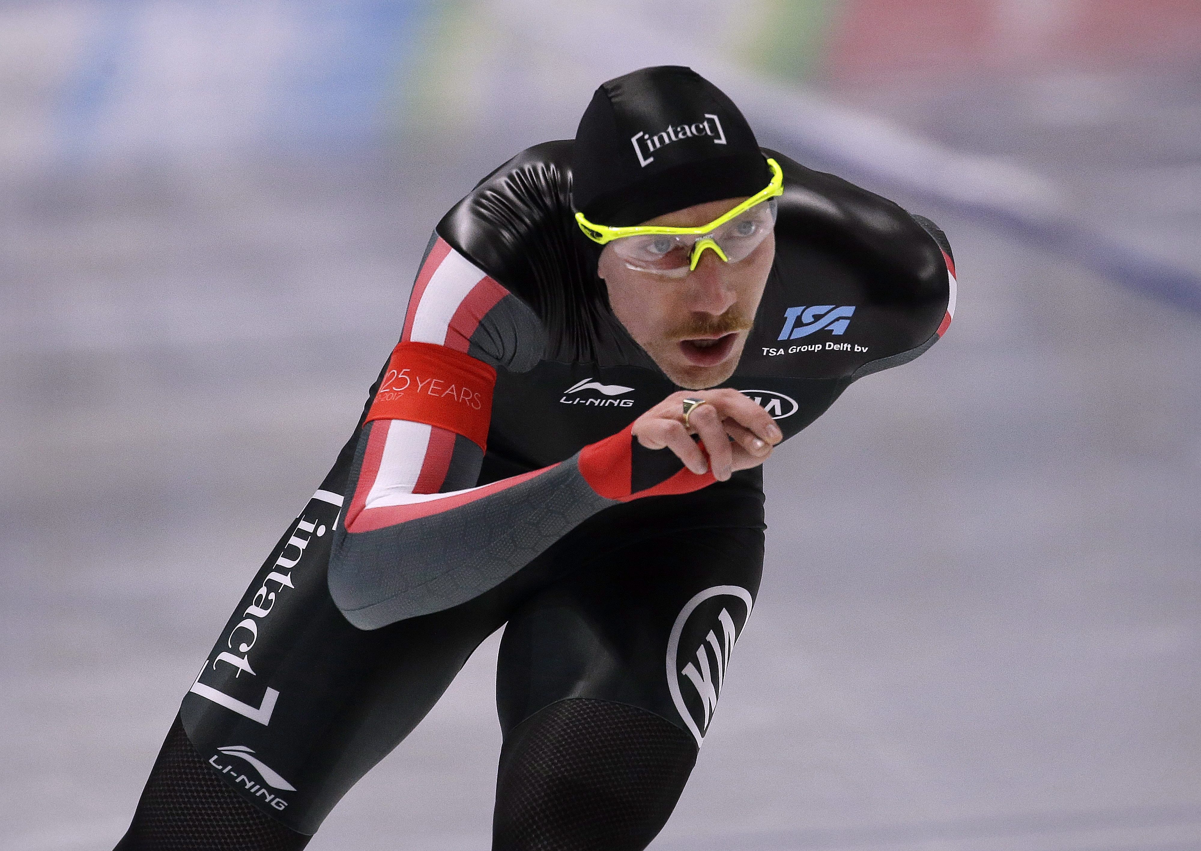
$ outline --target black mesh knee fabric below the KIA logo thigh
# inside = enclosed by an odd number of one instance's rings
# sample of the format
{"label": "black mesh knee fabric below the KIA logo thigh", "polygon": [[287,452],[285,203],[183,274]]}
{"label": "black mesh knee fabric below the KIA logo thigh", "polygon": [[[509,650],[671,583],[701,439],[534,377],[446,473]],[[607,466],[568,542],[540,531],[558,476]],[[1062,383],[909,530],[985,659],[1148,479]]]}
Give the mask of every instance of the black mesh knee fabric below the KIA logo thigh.
{"label": "black mesh knee fabric below the KIA logo thigh", "polygon": [[506,738],[492,851],[641,851],[697,761],[685,731],[625,703],[570,699]]}

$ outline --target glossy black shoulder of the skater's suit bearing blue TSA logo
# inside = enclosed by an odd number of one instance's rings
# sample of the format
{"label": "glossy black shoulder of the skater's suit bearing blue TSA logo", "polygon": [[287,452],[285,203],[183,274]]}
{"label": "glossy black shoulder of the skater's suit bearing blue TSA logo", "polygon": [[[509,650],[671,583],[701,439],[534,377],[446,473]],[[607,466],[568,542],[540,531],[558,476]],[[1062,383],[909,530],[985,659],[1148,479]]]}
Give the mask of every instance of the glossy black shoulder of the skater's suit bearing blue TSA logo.
{"label": "glossy black shoulder of the skater's suit bearing blue TSA logo", "polygon": [[932,344],[952,306],[942,230],[842,178],[769,154],[784,168],[776,262],[739,372],[849,382]]}

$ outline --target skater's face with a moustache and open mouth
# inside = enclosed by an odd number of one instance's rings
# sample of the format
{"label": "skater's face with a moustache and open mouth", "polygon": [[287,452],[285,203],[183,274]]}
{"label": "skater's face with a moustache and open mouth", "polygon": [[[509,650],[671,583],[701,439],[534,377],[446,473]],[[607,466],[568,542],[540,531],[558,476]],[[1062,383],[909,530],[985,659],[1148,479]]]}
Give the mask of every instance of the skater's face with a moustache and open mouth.
{"label": "skater's face with a moustache and open mouth", "polygon": [[[697,204],[643,223],[700,227],[742,200]],[[746,259],[724,263],[706,250],[689,275],[671,278],[629,269],[610,244],[597,272],[614,314],[638,344],[679,386],[701,390],[734,374],[775,257],[772,233]]]}

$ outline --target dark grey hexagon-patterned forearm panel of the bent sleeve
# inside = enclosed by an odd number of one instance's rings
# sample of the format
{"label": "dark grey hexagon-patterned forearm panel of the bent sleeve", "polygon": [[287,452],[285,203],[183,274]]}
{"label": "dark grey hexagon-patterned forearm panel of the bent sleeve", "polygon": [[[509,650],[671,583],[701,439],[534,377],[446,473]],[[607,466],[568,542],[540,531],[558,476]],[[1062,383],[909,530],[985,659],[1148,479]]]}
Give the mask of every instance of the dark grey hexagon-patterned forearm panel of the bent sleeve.
{"label": "dark grey hexagon-patterned forearm panel of the bent sleeve", "polygon": [[346,619],[378,629],[471,600],[603,508],[575,457],[458,508],[371,532],[339,529],[329,592]]}

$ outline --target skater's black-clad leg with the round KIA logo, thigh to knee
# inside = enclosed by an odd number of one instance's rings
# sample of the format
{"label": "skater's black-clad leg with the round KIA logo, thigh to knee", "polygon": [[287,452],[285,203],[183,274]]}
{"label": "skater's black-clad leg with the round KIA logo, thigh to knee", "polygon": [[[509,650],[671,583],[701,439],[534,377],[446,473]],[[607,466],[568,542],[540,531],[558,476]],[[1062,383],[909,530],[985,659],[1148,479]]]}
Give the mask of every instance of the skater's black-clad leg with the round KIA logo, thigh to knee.
{"label": "skater's black-clad leg with the round KIA logo, thigh to knee", "polygon": [[663,533],[581,563],[514,613],[494,851],[650,844],[695,762],[761,569],[761,529]]}

